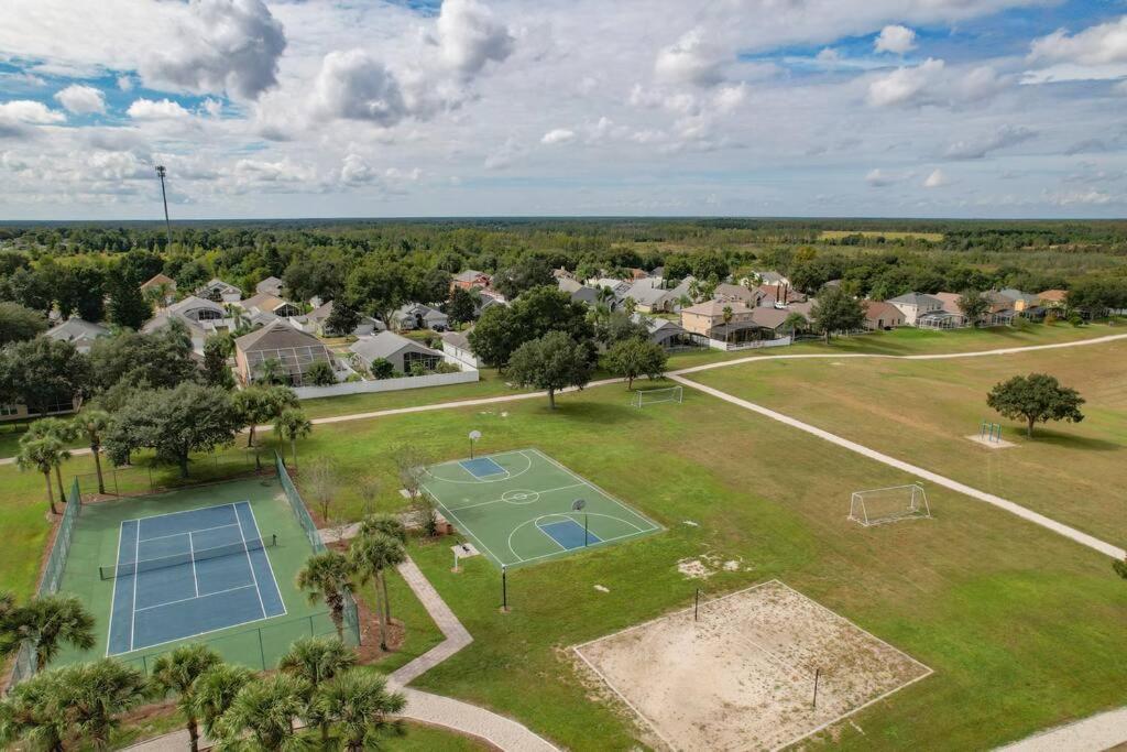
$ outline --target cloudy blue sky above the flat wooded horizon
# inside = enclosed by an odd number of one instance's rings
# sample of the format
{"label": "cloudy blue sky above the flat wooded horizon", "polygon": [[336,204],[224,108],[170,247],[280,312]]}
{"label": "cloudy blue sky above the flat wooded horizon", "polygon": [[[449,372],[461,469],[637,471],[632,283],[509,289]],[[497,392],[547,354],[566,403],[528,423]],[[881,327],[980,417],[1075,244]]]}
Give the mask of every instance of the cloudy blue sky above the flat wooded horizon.
{"label": "cloudy blue sky above the flat wooded horizon", "polygon": [[0,219],[1122,218],[1127,0],[3,0]]}

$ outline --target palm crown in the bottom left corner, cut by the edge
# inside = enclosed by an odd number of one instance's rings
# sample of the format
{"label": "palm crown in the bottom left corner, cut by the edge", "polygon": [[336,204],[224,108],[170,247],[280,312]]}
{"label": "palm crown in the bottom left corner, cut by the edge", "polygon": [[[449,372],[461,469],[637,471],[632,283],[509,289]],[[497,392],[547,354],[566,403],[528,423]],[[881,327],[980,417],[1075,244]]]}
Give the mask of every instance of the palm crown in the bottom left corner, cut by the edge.
{"label": "palm crown in the bottom left corner, cut by the edge", "polygon": [[62,701],[62,671],[44,671],[12,688],[0,702],[0,746],[23,742],[28,749],[62,752],[70,731]]}

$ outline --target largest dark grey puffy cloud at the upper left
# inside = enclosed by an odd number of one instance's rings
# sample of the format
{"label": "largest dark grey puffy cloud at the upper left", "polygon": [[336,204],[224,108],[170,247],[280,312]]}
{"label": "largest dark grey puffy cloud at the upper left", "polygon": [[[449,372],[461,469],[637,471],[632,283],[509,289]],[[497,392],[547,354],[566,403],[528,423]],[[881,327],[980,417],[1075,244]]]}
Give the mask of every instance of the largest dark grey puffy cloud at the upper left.
{"label": "largest dark grey puffy cloud at the upper left", "polygon": [[277,83],[285,46],[282,24],[261,0],[190,0],[140,72],[150,87],[255,99]]}

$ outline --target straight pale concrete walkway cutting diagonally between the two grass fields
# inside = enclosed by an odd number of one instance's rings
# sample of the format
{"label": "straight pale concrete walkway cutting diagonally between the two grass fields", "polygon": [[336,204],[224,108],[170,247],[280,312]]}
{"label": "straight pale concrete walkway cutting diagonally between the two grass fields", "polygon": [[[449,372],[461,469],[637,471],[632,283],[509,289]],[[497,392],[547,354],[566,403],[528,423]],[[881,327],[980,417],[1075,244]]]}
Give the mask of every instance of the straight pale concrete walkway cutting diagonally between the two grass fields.
{"label": "straight pale concrete walkway cutting diagonally between the two grass fields", "polygon": [[778,413],[767,407],[763,407],[762,405],[756,405],[755,402],[749,402],[746,399],[740,399],[739,397],[733,397],[731,395],[720,391],[719,389],[713,389],[712,387],[706,387],[702,383],[698,383],[681,375],[669,374],[669,378],[676,381],[677,383],[684,384],[685,387],[703,391],[704,393],[711,395],[717,399],[722,399],[726,402],[731,402],[733,405],[737,405],[744,408],[745,410],[752,410],[753,413],[758,413],[760,415],[769,417],[772,421],[784,423],[786,425],[789,425],[792,428],[805,431],[806,433],[813,434],[818,439],[824,439],[825,441],[828,441],[832,444],[836,444],[837,446],[848,449],[851,452],[857,452],[862,457],[867,457],[878,462],[882,462],[884,465],[887,465],[889,467],[894,467],[897,470],[903,470],[904,472],[909,472],[914,476],[929,480],[935,484],[937,486],[942,486],[956,493],[964,494],[965,496],[976,498],[980,502],[986,502],[987,504],[996,506],[1001,510],[1005,510],[1011,514],[1015,514],[1023,520],[1028,520],[1033,524],[1038,524],[1047,530],[1051,530],[1057,534],[1064,536],[1065,538],[1070,538],[1076,541],[1077,543],[1081,543],[1082,546],[1088,546],[1089,548],[1094,549],[1100,554],[1104,554],[1107,556],[1117,559],[1121,559],[1125,556],[1127,556],[1127,551],[1124,551],[1124,549],[1119,548],[1118,546],[1112,546],[1111,543],[1104,542],[1099,538],[1089,536],[1086,532],[1081,532],[1080,530],[1071,528],[1062,522],[1057,522],[1056,520],[1050,520],[1044,514],[1039,514],[1037,512],[1033,512],[1032,510],[1028,510],[1024,506],[1015,504],[1014,502],[1011,502],[1009,499],[1002,498],[1001,496],[995,496],[994,494],[987,494],[986,492],[978,490],[977,488],[973,488],[964,483],[959,483],[958,480],[951,480],[950,478],[941,476],[938,472],[932,472],[931,470],[925,470],[920,466],[912,465],[911,462],[905,462],[904,460],[898,460],[895,457],[889,457],[884,452],[878,452],[877,450],[869,449],[868,446],[859,444],[855,441],[850,441],[849,439],[843,439],[837,434],[829,433],[828,431],[823,431],[817,426],[813,426],[809,423],[804,423],[797,418],[790,417],[789,415],[783,415],[782,413]]}

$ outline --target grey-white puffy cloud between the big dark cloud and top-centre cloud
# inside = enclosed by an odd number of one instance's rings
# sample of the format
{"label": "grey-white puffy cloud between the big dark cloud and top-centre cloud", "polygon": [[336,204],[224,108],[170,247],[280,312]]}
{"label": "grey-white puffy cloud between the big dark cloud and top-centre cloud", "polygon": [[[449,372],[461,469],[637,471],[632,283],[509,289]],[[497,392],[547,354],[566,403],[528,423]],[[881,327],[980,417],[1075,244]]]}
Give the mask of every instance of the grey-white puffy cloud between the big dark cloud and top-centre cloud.
{"label": "grey-white puffy cloud between the big dark cloud and top-centre cloud", "polygon": [[399,80],[363,50],[330,52],[313,83],[316,110],[327,117],[384,127],[408,116]]}

